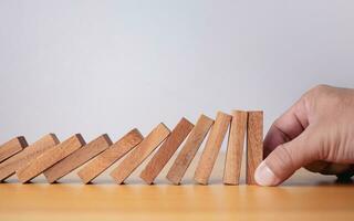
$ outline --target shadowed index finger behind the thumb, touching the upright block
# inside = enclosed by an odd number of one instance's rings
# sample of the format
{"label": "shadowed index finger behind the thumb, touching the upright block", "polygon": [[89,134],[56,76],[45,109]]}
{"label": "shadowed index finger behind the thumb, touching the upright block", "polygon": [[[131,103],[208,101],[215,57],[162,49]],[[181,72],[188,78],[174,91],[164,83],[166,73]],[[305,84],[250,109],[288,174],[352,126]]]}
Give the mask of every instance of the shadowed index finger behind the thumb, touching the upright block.
{"label": "shadowed index finger behind the thumb, touching the upright block", "polygon": [[298,137],[309,126],[304,98],[300,98],[270,127],[264,138],[264,158],[281,144]]}

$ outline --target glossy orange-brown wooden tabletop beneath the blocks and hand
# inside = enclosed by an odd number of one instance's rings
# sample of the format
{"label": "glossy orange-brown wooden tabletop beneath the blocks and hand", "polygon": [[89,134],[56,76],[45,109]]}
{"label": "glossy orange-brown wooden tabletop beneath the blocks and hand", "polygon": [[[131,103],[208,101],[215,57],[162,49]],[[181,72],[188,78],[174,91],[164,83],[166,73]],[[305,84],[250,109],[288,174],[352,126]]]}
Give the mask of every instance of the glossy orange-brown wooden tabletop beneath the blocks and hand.
{"label": "glossy orange-brown wooden tabletop beneath the blocks and hand", "polygon": [[164,179],[168,166],[153,186],[144,185],[138,171],[122,186],[110,179],[110,170],[86,186],[75,173],[55,185],[42,176],[28,185],[12,177],[0,183],[0,220],[354,220],[352,183],[302,169],[281,187],[223,186],[223,158],[209,186],[192,182],[196,159],[181,186]]}

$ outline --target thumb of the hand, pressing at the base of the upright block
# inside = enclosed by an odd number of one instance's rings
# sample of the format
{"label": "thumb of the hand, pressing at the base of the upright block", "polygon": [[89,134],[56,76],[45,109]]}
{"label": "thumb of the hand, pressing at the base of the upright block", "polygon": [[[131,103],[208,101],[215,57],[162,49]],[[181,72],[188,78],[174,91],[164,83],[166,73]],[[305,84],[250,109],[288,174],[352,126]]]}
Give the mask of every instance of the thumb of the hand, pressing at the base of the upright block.
{"label": "thumb of the hand, pressing at the base of the upright block", "polygon": [[308,127],[296,138],[279,145],[256,169],[254,180],[260,186],[277,186],[302,166],[319,157],[320,140]]}

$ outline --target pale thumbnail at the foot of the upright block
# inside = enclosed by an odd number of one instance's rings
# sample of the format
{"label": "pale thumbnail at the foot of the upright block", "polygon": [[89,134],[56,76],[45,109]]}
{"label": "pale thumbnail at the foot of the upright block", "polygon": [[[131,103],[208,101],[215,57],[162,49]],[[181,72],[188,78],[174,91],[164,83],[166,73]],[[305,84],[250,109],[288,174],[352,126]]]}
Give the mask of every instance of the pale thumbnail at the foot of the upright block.
{"label": "pale thumbnail at the foot of the upright block", "polygon": [[262,161],[256,169],[254,180],[260,186],[275,186],[280,181],[264,161]]}

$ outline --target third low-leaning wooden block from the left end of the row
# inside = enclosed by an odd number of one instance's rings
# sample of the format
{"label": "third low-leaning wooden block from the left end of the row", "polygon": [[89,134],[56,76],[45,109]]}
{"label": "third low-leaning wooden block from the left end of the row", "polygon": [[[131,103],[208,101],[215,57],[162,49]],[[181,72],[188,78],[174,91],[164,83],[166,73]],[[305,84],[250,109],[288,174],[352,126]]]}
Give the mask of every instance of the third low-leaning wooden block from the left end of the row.
{"label": "third low-leaning wooden block from the left end of the row", "polygon": [[76,134],[56,145],[55,148],[49,149],[32,159],[28,165],[19,168],[15,173],[22,183],[28,182],[84,145],[84,138],[80,134]]}

